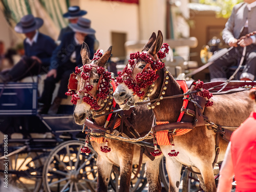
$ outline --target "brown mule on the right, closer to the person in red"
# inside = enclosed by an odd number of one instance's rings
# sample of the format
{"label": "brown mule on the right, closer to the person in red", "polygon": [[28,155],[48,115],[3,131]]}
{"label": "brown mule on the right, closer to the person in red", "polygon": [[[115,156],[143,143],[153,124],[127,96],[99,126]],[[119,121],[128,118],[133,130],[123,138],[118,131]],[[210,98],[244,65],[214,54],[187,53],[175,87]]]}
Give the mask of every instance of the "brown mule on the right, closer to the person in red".
{"label": "brown mule on the right, closer to the person in red", "polygon": [[[153,33],[142,52],[146,52],[152,59],[157,60],[157,53],[161,49],[162,43],[163,36],[161,31],[158,31],[157,36]],[[136,79],[137,74],[142,71],[144,72],[143,69],[146,68],[145,66],[147,66],[147,63],[141,58],[138,59],[129,77]],[[128,67],[130,68],[130,66]],[[159,78],[154,82],[154,87],[146,86],[146,88],[141,89],[141,91],[145,93],[151,92],[151,94],[148,94],[149,100],[158,98],[159,94],[163,91],[161,88],[165,81],[167,81],[167,84],[165,84],[166,90],[164,90],[164,94],[162,94],[163,97],[183,94],[181,87],[172,75],[168,73],[167,78],[164,76],[164,68],[158,70],[156,73],[159,75]],[[148,91],[149,88],[152,88],[152,90]],[[249,91],[242,91],[224,95],[214,95],[210,99],[214,101],[214,105],[206,107],[203,115],[207,116],[209,121],[217,125],[238,127],[252,111],[252,103],[248,94]],[[130,90],[124,82],[119,83],[114,93],[114,98],[122,109],[130,108],[130,106],[127,105],[127,101],[139,102],[141,100],[137,94],[135,95],[135,91]],[[154,106],[154,109],[152,108],[157,121],[177,122],[182,103],[183,97],[160,100],[160,103]],[[148,131],[149,130],[150,128],[148,128]],[[216,154],[216,133],[208,130],[207,126],[203,125],[196,127],[184,135],[174,136],[173,141],[175,143],[175,150],[179,152],[176,157],[170,157],[168,155],[168,153],[173,150],[171,145],[160,146],[163,155],[166,157],[169,191],[179,190],[182,164],[191,166],[194,170],[201,173],[199,179],[204,191],[216,191],[214,172],[212,169],[212,163],[214,162]],[[228,143],[222,138],[220,139],[218,162],[223,160],[227,144]]]}

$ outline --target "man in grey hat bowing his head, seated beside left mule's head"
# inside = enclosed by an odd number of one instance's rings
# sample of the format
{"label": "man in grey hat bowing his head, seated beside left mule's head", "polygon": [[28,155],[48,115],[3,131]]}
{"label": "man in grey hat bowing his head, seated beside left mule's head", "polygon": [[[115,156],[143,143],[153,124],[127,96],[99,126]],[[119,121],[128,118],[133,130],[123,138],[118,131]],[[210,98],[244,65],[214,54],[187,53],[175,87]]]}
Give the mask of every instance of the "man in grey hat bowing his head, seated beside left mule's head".
{"label": "man in grey hat bowing his head, seated beside left mule's head", "polygon": [[[60,45],[54,50],[51,58],[50,71],[45,79],[45,87],[39,102],[42,103],[39,113],[47,114],[50,107],[52,113],[57,113],[58,106],[62,98],[67,98],[69,76],[75,72],[75,67],[82,66],[80,55],[82,43],[86,42],[90,50],[90,59],[94,54],[94,38],[95,30],[91,28],[91,20],[80,17],[77,24],[70,24],[73,32],[63,35]],[[55,89],[55,83],[60,80],[60,87],[57,97],[51,106],[52,95]]]}

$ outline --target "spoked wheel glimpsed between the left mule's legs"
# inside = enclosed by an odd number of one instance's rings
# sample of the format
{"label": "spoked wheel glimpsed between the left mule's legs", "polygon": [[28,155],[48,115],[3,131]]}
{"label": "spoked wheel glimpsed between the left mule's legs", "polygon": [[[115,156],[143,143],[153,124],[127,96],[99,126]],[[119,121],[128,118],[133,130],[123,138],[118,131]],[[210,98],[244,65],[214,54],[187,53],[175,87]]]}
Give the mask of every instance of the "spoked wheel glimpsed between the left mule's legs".
{"label": "spoked wheel glimpsed between the left mule's legs", "polygon": [[[131,177],[132,179],[134,178],[137,172],[137,168],[138,168],[138,165],[133,165],[132,177]],[[137,178],[130,181],[130,192],[142,191],[146,186],[146,183],[147,183],[147,180],[145,176],[145,164],[142,164]],[[120,184],[120,170],[119,170],[119,167],[117,166],[113,166],[110,184],[116,192],[119,191],[118,188]]]}

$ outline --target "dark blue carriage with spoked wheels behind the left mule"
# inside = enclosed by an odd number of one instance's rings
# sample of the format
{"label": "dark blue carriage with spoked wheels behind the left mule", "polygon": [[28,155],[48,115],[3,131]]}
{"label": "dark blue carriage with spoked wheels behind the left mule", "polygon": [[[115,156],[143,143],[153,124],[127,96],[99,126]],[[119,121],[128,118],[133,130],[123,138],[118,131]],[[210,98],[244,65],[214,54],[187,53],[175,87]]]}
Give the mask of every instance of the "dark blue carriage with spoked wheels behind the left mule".
{"label": "dark blue carriage with spoked wheels behind the left mule", "polygon": [[[95,191],[97,153],[80,153],[86,135],[74,122],[73,106],[66,114],[37,113],[37,82],[0,84],[2,162],[0,175],[8,175],[9,188],[22,191]],[[68,113],[69,112],[69,113]],[[7,153],[5,153],[7,152]],[[144,166],[130,191],[146,185]],[[133,167],[136,172],[136,165]],[[113,167],[108,190],[118,191],[119,168]]]}

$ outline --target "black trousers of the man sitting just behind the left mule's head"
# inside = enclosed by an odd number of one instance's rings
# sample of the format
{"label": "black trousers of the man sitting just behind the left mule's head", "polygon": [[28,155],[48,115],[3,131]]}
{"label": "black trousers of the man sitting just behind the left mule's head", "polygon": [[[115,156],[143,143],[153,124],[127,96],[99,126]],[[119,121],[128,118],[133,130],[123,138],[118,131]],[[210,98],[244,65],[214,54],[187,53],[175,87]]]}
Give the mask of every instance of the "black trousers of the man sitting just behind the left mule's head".
{"label": "black trousers of the man sitting just behind the left mule's head", "polygon": [[50,106],[52,102],[52,96],[54,89],[56,87],[56,83],[60,81],[59,90],[57,93],[57,97],[67,98],[65,93],[68,91],[68,83],[70,74],[75,71],[76,65],[72,63],[66,67],[59,67],[57,70],[57,76],[54,78],[53,76],[47,77],[44,82],[44,91],[42,92],[42,96],[39,99],[39,102],[44,103],[46,106]]}

